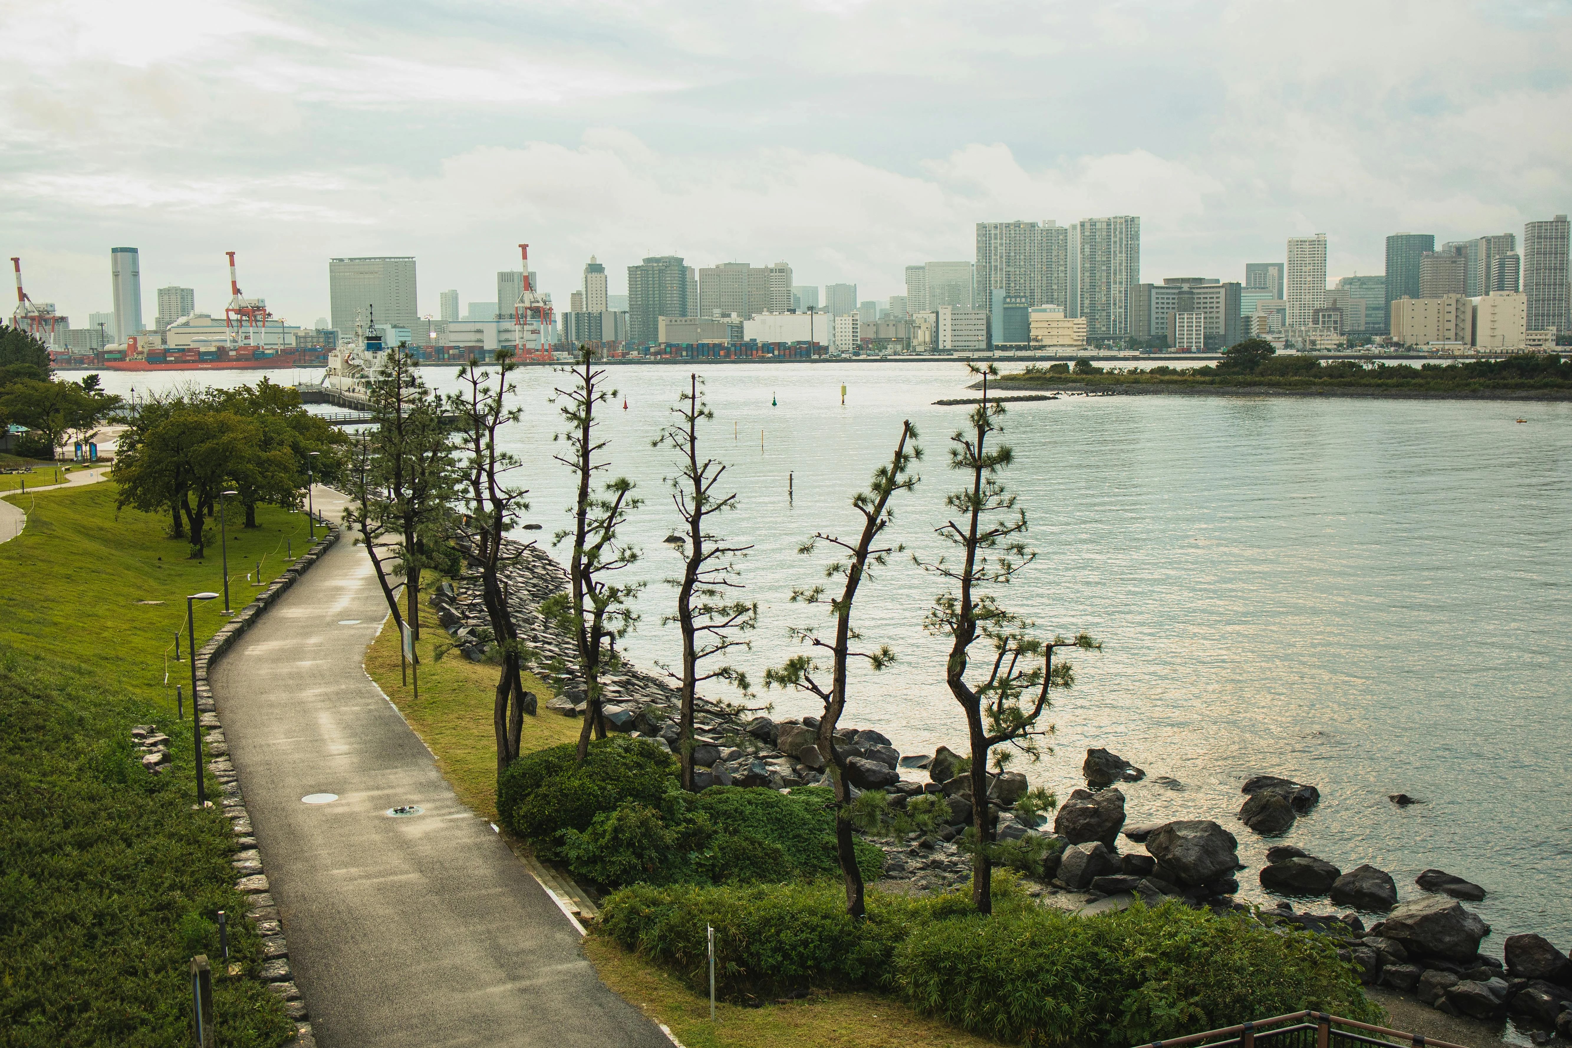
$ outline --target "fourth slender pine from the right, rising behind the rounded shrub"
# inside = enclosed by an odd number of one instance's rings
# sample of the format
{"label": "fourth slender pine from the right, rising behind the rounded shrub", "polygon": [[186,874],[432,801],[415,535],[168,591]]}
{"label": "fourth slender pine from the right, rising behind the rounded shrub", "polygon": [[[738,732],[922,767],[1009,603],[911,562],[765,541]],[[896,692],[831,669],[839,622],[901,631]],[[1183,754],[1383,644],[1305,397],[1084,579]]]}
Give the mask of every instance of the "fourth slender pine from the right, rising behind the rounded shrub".
{"label": "fourth slender pine from the right, rising behind the rounded shrub", "polygon": [[572,539],[567,561],[569,591],[550,597],[542,611],[572,636],[578,650],[578,669],[585,682],[585,723],[578,734],[578,764],[590,753],[590,737],[605,738],[605,718],[601,713],[601,674],[621,665],[616,654],[616,638],[626,636],[638,621],[632,608],[643,583],[621,583],[618,572],[638,561],[638,548],[621,537],[627,515],[643,504],[634,495],[634,482],[624,476],[607,481],[596,493],[597,475],[610,468],[602,453],[607,442],[596,434],[594,412],[616,396],[605,385],[605,369],[594,366],[588,346],[578,347],[578,363],[569,372],[574,383],[558,388],[566,427],[552,440],[567,445],[566,454],[555,456],[577,481],[574,517],[571,528],[553,536],[555,544]]}

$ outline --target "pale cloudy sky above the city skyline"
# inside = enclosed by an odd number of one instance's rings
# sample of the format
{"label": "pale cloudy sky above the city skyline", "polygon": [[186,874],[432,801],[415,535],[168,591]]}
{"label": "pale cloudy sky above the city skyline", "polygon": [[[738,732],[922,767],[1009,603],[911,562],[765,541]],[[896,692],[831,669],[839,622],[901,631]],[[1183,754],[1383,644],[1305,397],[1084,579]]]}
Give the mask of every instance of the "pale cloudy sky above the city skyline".
{"label": "pale cloudy sky above the city skyline", "polygon": [[292,324],[327,259],[413,255],[420,310],[528,242],[786,259],[901,294],[979,220],[1137,214],[1143,277],[1240,280],[1325,233],[1517,233],[1572,211],[1572,3],[0,0],[0,256],[77,324],[108,250]]}

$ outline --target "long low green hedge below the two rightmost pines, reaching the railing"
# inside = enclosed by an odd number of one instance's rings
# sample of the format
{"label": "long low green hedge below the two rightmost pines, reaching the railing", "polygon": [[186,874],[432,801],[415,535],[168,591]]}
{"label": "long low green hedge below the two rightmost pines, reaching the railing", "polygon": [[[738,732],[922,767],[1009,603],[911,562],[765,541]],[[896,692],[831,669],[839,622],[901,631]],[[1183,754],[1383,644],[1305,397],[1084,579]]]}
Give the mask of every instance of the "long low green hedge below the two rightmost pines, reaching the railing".
{"label": "long low green hedge below the two rightmost pines, reaching the railing", "polygon": [[1077,918],[1039,908],[1005,875],[994,892],[989,918],[962,892],[869,892],[868,918],[852,921],[828,881],[638,886],[605,900],[597,933],[701,987],[714,925],[717,987],[731,999],[883,990],[1009,1043],[1124,1048],[1300,1009],[1380,1018],[1352,968],[1309,933],[1176,902]]}

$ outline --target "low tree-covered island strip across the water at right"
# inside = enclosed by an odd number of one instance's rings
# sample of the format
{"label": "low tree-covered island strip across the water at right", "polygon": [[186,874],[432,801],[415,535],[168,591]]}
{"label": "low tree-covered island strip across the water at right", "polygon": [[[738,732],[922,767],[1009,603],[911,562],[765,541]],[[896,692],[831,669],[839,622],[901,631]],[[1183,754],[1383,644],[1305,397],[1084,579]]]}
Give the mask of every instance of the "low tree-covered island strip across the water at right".
{"label": "low tree-covered island strip across the water at right", "polygon": [[1074,366],[1028,365],[1023,372],[989,382],[989,388],[1137,394],[1572,401],[1572,357],[1522,354],[1503,360],[1423,363],[1415,368],[1380,361],[1278,357],[1270,343],[1247,339],[1225,350],[1217,365],[1118,369],[1099,368],[1091,360],[1082,358]]}

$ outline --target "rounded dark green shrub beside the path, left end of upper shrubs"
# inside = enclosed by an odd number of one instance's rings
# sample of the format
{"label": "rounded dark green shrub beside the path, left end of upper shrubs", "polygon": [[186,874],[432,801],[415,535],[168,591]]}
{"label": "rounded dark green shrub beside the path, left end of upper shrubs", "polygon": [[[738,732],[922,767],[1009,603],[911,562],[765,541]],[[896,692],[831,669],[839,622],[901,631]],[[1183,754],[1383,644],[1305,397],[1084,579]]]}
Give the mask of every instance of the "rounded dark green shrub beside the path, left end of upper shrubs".
{"label": "rounded dark green shrub beside the path, left end of upper shrubs", "polygon": [[659,808],[678,786],[676,759],[643,738],[612,735],[590,743],[577,764],[572,743],[525,754],[497,779],[497,822],[558,858],[564,830],[585,831],[624,801]]}

